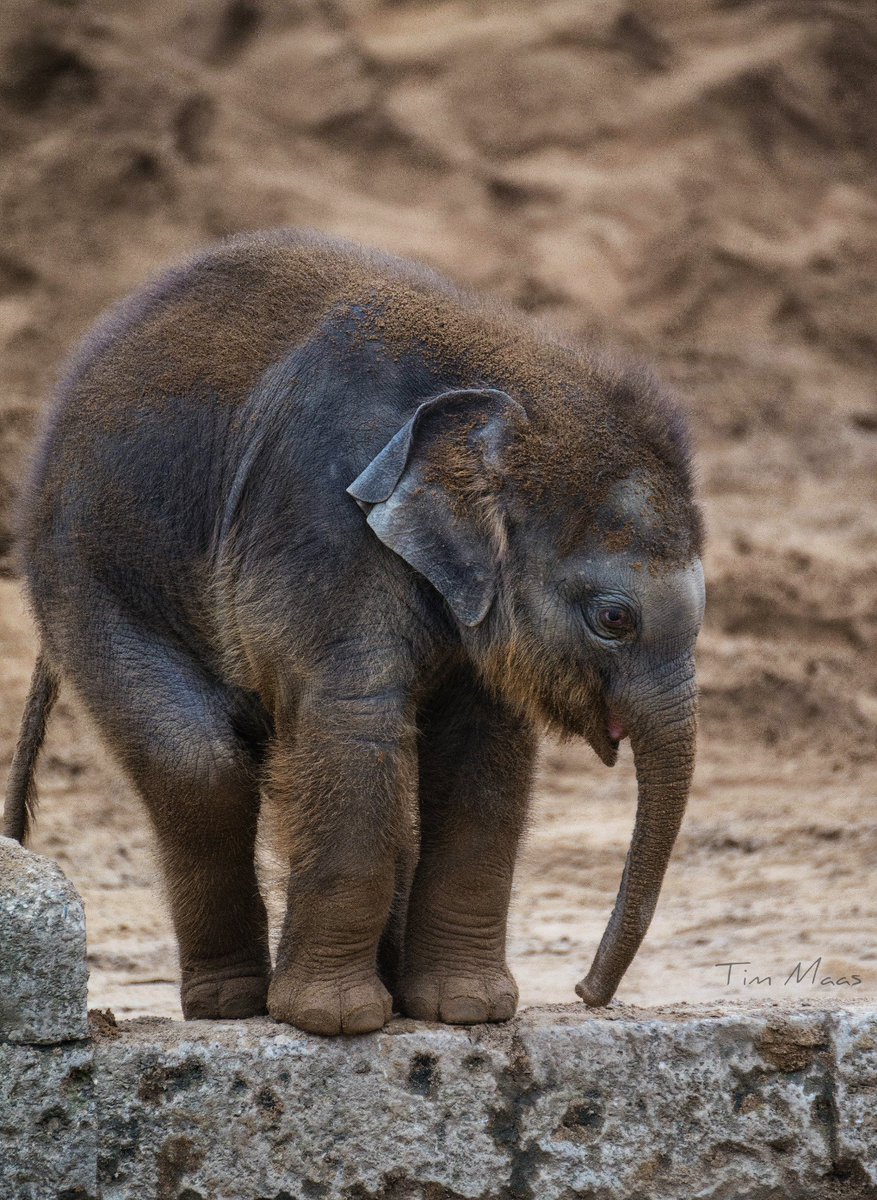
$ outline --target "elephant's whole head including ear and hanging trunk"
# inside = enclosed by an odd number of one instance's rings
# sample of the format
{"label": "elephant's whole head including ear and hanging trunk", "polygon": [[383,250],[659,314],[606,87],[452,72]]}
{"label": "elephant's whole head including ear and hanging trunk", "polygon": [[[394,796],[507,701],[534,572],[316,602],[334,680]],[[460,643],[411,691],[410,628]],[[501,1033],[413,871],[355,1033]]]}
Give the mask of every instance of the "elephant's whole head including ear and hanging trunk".
{"label": "elephant's whole head including ear and hanging trunk", "polygon": [[630,737],[638,805],[588,976],[613,996],[651,920],[695,755],[699,514],[685,433],[648,392],[528,412],[493,389],[421,404],[348,488],[378,536],[447,601],[506,700],[612,766]]}

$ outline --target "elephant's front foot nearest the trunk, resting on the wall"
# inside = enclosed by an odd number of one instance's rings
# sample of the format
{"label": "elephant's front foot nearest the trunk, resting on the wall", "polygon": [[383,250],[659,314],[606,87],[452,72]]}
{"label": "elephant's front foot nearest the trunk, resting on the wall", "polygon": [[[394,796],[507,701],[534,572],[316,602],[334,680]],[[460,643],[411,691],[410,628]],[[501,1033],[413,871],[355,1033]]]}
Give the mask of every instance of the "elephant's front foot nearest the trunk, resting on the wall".
{"label": "elephant's front foot nearest the trunk, resting on the wall", "polygon": [[507,1021],[517,1009],[517,984],[507,967],[464,973],[459,968],[413,971],[402,976],[400,1007],[406,1016],[447,1025]]}

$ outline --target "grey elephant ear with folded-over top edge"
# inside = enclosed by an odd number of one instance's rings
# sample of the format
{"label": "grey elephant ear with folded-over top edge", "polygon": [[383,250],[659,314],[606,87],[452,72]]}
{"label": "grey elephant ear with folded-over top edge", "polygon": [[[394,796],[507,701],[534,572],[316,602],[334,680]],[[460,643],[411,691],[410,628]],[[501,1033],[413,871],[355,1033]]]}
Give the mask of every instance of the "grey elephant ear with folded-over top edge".
{"label": "grey elephant ear with folded-over top edge", "polygon": [[424,575],[464,625],[480,624],[495,595],[503,451],[525,422],[504,391],[441,392],[347,488],[384,545]]}

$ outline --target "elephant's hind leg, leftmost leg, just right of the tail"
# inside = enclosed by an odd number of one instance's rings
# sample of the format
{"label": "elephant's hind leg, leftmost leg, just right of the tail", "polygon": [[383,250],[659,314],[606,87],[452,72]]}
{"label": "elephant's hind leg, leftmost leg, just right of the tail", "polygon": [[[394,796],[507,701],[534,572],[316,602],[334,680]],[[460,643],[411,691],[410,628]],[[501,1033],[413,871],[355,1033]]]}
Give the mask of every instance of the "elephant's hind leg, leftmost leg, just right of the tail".
{"label": "elephant's hind leg, leftmost leg, just right of the tail", "polygon": [[[124,636],[122,636],[124,630]],[[265,1012],[268,919],[256,874],[259,746],[233,691],[151,632],[102,623],[71,672],[149,811],[179,943],[186,1018]]]}

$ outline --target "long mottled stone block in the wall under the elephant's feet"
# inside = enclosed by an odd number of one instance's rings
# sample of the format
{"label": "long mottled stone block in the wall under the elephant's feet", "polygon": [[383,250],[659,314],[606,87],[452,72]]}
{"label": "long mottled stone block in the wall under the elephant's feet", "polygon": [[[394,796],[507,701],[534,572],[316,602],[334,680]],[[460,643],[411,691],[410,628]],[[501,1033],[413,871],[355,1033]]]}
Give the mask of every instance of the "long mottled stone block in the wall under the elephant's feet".
{"label": "long mottled stone block in the wall under the elephant's feet", "polygon": [[136,1021],[96,1050],[102,1195],[372,1196],[391,1178],[489,1195],[507,1175],[492,1128],[507,1068],[483,1031],[324,1040],[268,1019]]}

